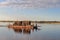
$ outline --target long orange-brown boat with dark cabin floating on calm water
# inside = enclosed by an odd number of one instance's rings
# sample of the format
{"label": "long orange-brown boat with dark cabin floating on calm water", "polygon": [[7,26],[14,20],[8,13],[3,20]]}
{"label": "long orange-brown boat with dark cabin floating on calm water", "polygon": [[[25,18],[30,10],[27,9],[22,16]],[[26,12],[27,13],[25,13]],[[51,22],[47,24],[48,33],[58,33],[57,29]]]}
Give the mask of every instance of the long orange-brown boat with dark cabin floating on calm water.
{"label": "long orange-brown boat with dark cabin floating on calm water", "polygon": [[33,29],[33,25],[31,25],[30,21],[16,21],[12,25],[8,25],[9,28],[14,28],[14,29]]}

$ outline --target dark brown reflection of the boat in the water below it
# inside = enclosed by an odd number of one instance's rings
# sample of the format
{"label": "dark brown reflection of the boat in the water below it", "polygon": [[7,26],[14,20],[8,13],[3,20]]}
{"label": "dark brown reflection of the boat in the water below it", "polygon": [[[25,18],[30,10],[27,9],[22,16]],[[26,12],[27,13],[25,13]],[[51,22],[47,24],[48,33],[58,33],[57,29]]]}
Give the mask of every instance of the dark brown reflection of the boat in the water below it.
{"label": "dark brown reflection of the boat in the water below it", "polygon": [[[9,27],[8,27],[9,28]],[[15,33],[23,33],[23,34],[31,34],[31,31],[38,31],[40,30],[39,28],[30,28],[30,29],[27,29],[27,28],[13,28],[13,27],[10,27],[10,29],[13,29]]]}

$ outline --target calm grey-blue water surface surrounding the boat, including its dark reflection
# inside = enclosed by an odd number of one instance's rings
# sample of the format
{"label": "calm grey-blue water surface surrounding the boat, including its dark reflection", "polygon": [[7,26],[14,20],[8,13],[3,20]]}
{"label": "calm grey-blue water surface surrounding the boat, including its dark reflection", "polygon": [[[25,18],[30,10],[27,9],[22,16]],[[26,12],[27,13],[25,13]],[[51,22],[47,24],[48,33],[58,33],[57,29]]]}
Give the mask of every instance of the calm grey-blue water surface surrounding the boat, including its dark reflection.
{"label": "calm grey-blue water surface surrounding the boat, including its dark reflection", "polygon": [[38,24],[39,29],[29,32],[0,25],[0,40],[60,40],[60,24]]}

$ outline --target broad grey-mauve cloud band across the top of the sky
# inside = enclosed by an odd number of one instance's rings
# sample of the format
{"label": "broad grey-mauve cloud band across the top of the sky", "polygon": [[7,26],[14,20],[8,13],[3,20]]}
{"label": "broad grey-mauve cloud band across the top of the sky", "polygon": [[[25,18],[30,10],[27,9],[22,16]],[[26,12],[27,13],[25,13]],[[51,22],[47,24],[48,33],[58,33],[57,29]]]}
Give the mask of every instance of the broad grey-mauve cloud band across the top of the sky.
{"label": "broad grey-mauve cloud band across the top of the sky", "polygon": [[60,0],[5,0],[0,7],[16,8],[56,8],[60,7]]}

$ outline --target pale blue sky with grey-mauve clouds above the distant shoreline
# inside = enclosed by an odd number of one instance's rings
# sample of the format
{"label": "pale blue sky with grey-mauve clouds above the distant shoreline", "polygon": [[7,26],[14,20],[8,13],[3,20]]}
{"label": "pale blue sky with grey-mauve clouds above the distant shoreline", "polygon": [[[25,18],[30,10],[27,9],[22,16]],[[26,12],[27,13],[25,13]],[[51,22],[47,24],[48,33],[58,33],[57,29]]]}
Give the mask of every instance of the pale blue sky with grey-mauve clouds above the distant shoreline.
{"label": "pale blue sky with grey-mauve clouds above the distant shoreline", "polygon": [[60,0],[0,0],[0,20],[60,21]]}

